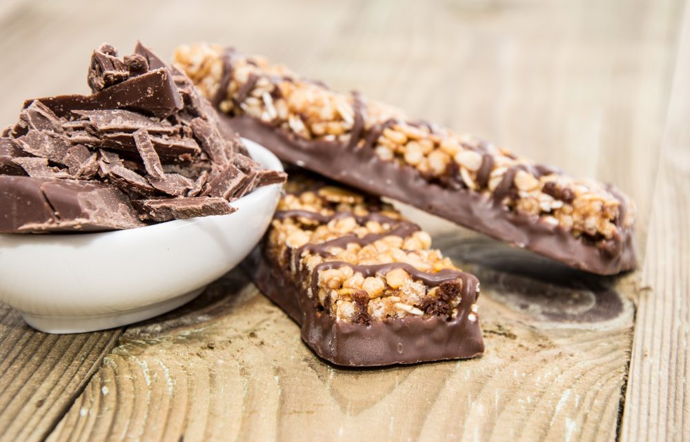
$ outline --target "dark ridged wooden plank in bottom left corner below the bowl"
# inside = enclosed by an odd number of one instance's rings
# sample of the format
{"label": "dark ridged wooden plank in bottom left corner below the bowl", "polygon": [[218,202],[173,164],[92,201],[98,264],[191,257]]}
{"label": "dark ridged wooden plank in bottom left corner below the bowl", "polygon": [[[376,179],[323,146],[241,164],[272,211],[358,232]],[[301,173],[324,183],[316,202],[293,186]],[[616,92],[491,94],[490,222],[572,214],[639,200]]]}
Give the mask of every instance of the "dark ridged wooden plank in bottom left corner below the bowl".
{"label": "dark ridged wooden plank in bottom left corner below the bowl", "polygon": [[120,334],[37,332],[0,303],[0,441],[43,440]]}

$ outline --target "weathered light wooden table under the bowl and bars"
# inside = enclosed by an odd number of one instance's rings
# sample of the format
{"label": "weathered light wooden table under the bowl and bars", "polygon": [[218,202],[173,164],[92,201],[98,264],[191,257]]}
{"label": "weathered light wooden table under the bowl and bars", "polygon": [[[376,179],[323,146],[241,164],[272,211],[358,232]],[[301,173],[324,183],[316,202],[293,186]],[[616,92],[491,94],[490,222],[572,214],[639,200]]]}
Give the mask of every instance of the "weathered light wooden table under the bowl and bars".
{"label": "weathered light wooden table under the bowl and bars", "polygon": [[684,1],[166,3],[1,3],[3,125],[23,99],[85,91],[102,41],[233,44],[617,183],[638,203],[640,270],[584,276],[410,211],[480,276],[487,350],[372,370],[319,361],[240,271],[92,334],[35,332],[0,305],[0,440],[690,439]]}

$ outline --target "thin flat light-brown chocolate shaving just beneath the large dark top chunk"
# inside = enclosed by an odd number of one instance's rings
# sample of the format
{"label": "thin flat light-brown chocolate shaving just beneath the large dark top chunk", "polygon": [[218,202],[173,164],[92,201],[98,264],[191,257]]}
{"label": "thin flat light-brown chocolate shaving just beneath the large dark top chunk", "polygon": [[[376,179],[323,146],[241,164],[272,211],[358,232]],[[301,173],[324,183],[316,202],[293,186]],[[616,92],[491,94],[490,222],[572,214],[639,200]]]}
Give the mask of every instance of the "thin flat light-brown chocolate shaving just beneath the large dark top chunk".
{"label": "thin flat light-brown chocolate shaving just beneath the large dark top chunk", "polygon": [[139,113],[112,109],[108,111],[73,111],[77,115],[86,117],[90,124],[99,132],[135,132],[146,129],[152,134],[174,135],[177,128],[163,121],[150,119]]}

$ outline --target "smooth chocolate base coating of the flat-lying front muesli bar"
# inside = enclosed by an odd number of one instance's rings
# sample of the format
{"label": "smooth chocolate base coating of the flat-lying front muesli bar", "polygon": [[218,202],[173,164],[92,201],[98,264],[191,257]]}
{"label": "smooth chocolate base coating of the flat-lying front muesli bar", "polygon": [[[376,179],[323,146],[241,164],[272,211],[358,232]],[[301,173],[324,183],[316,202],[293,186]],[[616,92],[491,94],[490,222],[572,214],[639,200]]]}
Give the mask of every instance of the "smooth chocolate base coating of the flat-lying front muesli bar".
{"label": "smooth chocolate base coating of the flat-lying front muesli bar", "polygon": [[466,316],[475,300],[477,278],[467,275],[457,317],[394,318],[368,325],[333,320],[257,247],[242,267],[264,295],[293,318],[302,339],[326,361],[346,367],[377,367],[448,359],[484,353],[482,332]]}

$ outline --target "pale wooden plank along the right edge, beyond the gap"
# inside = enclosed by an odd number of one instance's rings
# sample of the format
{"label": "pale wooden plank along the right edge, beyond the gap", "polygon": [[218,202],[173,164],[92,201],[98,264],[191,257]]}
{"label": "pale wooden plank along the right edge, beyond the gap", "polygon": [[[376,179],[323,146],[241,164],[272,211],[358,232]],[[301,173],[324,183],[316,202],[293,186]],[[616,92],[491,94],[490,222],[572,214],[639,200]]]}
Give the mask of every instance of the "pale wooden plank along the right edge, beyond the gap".
{"label": "pale wooden plank along the right edge, beyond the gap", "polygon": [[690,440],[690,6],[660,152],[622,440]]}

